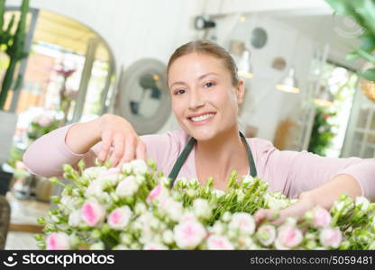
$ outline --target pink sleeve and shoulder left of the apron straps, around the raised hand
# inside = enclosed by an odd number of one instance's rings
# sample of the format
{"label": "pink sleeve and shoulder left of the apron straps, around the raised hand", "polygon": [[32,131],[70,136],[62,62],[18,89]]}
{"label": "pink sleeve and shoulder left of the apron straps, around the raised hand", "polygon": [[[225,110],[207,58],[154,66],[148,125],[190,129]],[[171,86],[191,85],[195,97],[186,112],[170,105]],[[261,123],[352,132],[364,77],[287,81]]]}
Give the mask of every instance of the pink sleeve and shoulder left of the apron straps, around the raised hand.
{"label": "pink sleeve and shoulder left of the apron straps, around the raised hand", "polygon": [[[101,142],[85,154],[71,151],[65,143],[70,126],[51,131],[35,140],[27,148],[23,154],[23,163],[32,174],[44,177],[61,176],[64,164],[70,164],[77,168],[80,159],[85,161],[87,167],[94,166]],[[155,160],[159,171],[163,172],[164,175],[169,173],[173,162],[178,157],[180,148],[180,142],[175,132],[143,135],[140,138],[146,145],[147,157]]]}

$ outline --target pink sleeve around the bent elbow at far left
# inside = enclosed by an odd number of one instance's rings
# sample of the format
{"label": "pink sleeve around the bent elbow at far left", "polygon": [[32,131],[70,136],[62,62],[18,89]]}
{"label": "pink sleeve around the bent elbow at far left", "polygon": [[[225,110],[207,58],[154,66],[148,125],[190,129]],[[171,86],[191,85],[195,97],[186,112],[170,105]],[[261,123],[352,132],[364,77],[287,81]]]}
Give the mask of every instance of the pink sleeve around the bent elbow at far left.
{"label": "pink sleeve around the bent elbow at far left", "polygon": [[23,154],[23,163],[32,174],[44,177],[61,176],[63,164],[77,168],[80,159],[85,161],[86,166],[93,166],[96,154],[92,149],[85,154],[77,154],[66,145],[65,137],[70,126],[41,136],[27,148]]}

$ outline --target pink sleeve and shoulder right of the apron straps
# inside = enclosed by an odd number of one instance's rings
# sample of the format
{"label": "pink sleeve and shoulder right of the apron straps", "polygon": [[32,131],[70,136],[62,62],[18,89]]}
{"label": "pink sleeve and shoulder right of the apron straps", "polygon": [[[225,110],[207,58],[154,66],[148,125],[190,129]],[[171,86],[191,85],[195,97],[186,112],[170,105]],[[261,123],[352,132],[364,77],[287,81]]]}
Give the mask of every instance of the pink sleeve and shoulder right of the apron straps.
{"label": "pink sleeve and shoulder right of the apron straps", "polygon": [[[321,157],[307,151],[280,151],[270,141],[255,139],[259,175],[272,191],[296,198],[336,175],[351,175],[361,186],[361,195],[375,199],[375,159]],[[258,168],[259,167],[259,168]]]}

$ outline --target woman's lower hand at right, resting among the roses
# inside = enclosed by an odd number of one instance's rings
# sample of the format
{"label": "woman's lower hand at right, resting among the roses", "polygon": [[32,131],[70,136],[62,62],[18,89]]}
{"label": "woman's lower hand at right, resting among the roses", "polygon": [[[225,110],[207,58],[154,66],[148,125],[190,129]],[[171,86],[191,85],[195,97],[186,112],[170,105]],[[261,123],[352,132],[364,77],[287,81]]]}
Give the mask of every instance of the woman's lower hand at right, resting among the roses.
{"label": "woman's lower hand at right, resting among the roses", "polygon": [[303,217],[306,211],[316,206],[313,197],[309,193],[301,193],[298,201],[281,210],[260,209],[255,212],[254,218],[257,226],[263,220],[270,220],[275,225],[282,224],[288,217]]}

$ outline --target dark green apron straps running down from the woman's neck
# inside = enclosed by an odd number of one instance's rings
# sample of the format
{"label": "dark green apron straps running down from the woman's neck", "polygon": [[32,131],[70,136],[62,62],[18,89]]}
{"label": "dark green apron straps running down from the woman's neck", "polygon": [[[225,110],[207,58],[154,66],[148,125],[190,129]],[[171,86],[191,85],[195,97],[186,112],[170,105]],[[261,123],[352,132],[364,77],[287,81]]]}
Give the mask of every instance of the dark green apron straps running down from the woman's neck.
{"label": "dark green apron straps running down from the woman's neck", "polygon": [[[250,146],[247,143],[247,140],[245,139],[245,137],[243,136],[241,131],[240,131],[240,136],[244,140],[245,145],[246,145],[247,157],[248,157],[249,166],[250,166],[250,174],[252,175],[252,177],[256,177],[257,169],[255,167],[254,158],[252,157],[252,150],[250,149]],[[173,186],[173,184],[176,180],[176,177],[179,173],[179,170],[184,165],[185,161],[188,158],[188,154],[190,154],[190,152],[194,148],[194,145],[196,144],[196,142],[197,142],[197,139],[194,139],[193,137],[191,137],[191,139],[189,139],[189,141],[188,141],[187,146],[182,150],[182,153],[178,156],[177,161],[176,161],[175,165],[172,168],[172,171],[170,172],[170,174],[168,176],[171,179],[170,187]]]}

